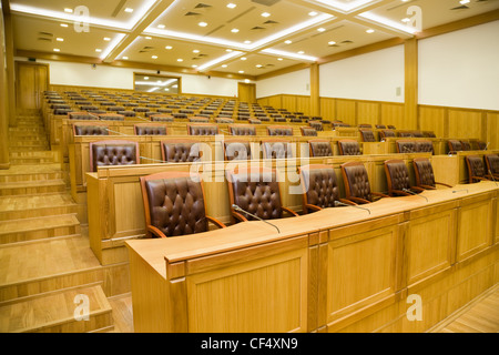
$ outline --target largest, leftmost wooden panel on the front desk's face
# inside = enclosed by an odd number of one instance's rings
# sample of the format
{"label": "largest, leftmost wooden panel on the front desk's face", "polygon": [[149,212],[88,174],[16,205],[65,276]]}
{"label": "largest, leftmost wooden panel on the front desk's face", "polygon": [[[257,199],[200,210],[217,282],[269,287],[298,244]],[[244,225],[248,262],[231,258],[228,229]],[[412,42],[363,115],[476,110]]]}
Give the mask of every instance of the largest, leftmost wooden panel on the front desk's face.
{"label": "largest, leftmost wooden panel on the front desk's face", "polygon": [[187,276],[189,332],[306,332],[307,248]]}

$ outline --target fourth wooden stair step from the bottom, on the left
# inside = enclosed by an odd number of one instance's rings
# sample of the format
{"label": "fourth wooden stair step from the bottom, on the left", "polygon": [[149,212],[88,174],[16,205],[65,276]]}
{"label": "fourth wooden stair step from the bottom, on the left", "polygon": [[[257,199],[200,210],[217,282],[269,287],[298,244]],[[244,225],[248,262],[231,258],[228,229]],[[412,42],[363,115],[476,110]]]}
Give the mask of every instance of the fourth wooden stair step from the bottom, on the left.
{"label": "fourth wooden stair step from the bottom, on the left", "polygon": [[0,196],[0,221],[78,213],[69,193]]}

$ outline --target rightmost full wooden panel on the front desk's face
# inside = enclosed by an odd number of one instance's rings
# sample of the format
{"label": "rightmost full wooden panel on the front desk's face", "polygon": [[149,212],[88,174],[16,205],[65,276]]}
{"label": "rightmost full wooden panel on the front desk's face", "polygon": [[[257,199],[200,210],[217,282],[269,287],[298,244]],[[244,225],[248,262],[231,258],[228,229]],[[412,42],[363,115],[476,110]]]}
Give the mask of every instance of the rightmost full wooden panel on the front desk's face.
{"label": "rightmost full wooden panel on the front desk's face", "polygon": [[492,244],[492,200],[488,195],[462,200],[458,213],[458,261]]}

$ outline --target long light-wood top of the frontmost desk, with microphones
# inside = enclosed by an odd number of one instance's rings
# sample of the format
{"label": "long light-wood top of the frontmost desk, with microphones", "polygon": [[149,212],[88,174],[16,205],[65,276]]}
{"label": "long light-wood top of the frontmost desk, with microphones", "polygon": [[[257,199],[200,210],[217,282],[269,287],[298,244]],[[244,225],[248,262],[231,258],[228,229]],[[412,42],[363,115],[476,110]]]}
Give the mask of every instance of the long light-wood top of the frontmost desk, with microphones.
{"label": "long light-wood top of the frontmost desk, with microphones", "polygon": [[[165,261],[175,263],[207,255],[230,252],[284,241],[294,236],[318,233],[348,224],[376,220],[387,215],[400,215],[405,212],[459,201],[487,192],[499,190],[499,183],[480,182],[456,185],[452,189],[425,191],[420,195],[381,199],[367,207],[370,214],[354,206],[326,209],[319,212],[271,221],[281,233],[259,221],[238,223],[226,229],[171,239],[131,240],[126,245],[135,251],[153,270],[166,278]],[[426,201],[426,199],[428,201]]]}

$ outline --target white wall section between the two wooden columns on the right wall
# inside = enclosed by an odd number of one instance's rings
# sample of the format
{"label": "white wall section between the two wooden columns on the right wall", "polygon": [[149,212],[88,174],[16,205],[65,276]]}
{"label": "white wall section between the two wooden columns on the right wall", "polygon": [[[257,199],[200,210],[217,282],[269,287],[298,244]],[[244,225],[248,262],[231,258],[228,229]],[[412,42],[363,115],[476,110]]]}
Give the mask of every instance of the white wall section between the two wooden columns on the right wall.
{"label": "white wall section between the two wooden columns on the right wall", "polygon": [[404,45],[319,67],[324,98],[404,102]]}

